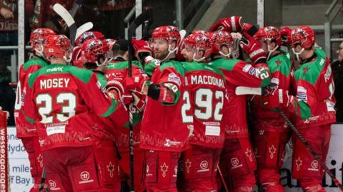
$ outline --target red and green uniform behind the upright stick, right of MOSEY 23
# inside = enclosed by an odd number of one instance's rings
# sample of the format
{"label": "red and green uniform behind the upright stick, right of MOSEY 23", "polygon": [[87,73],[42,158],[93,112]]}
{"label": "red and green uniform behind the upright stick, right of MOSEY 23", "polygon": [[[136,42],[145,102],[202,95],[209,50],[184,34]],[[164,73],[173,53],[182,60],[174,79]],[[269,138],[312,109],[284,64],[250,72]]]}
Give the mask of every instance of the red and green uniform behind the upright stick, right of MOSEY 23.
{"label": "red and green uniform behind the upright stick, right of MOSEY 23", "polygon": [[[108,80],[117,80],[123,82],[124,78],[128,75],[128,63],[118,62],[109,63],[108,70],[106,72],[106,78]],[[137,61],[132,61],[132,78],[134,82],[139,84],[141,90],[143,89],[146,81],[149,77],[144,73],[142,66]],[[141,91],[138,90],[138,91]],[[133,113],[134,124],[134,190],[144,191],[145,185],[143,181],[144,177],[144,150],[139,147],[139,132],[141,127],[141,113]],[[129,161],[129,126],[116,127],[116,145],[118,146],[121,159],[119,160],[119,177],[121,181],[129,183],[130,175],[130,161]]]}

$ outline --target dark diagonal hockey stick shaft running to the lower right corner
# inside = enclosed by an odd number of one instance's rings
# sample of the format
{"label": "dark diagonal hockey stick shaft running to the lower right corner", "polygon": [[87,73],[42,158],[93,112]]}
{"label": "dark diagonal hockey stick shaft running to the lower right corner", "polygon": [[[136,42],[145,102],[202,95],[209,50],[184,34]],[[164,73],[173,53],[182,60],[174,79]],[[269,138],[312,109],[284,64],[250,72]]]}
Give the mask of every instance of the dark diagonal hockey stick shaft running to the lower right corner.
{"label": "dark diagonal hockey stick shaft running to the lower right corner", "polygon": [[332,172],[329,170],[329,168],[327,168],[327,165],[325,164],[325,161],[320,158],[319,154],[317,154],[316,151],[314,151],[314,149],[312,149],[312,147],[309,145],[309,142],[307,142],[307,140],[302,136],[302,134],[298,131],[298,129],[292,124],[292,122],[288,119],[286,114],[284,114],[284,112],[282,112],[282,110],[279,109],[279,108],[277,108],[276,110],[277,110],[277,112],[279,112],[279,114],[281,115],[282,119],[284,119],[284,121],[292,129],[294,134],[297,135],[297,137],[299,138],[300,142],[302,142],[307,147],[307,149],[309,149],[309,152],[312,154],[312,156],[314,156],[314,159],[316,159],[319,162],[320,166],[322,166],[324,171],[327,172],[327,174],[332,178],[334,183],[336,183],[336,185],[338,186],[339,190],[343,192],[342,184],[339,183],[339,181],[336,178],[336,176],[334,176],[334,174],[332,174]]}

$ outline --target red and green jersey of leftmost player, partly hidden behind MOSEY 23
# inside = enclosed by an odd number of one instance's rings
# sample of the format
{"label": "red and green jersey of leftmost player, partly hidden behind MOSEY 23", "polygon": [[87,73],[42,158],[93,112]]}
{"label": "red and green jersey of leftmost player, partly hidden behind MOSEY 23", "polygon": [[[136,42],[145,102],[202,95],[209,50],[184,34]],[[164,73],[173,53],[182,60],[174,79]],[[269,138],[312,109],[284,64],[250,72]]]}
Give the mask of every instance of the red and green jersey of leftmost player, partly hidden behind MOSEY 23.
{"label": "red and green jersey of leftmost player, partly hidden behind MOSEY 23", "polygon": [[29,81],[29,75],[36,72],[36,70],[39,70],[40,68],[44,68],[46,65],[48,64],[45,60],[34,56],[19,67],[19,81],[16,87],[16,103],[14,105],[14,117],[16,118],[16,135],[19,138],[36,136],[35,125],[26,121],[21,109],[21,102],[23,102],[22,98],[24,98],[22,92]]}

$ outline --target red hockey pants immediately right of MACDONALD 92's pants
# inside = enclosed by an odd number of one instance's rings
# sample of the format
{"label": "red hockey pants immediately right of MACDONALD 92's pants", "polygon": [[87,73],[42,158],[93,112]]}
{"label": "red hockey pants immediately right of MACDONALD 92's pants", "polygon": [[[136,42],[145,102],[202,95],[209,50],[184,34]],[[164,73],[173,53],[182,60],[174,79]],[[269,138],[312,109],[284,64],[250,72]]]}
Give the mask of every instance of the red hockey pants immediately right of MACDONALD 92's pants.
{"label": "red hockey pants immediately right of MACDONALD 92's pants", "polygon": [[[257,167],[249,138],[225,139],[219,169],[224,181],[227,181],[227,186],[234,188],[233,191],[252,188],[255,185],[254,171]],[[229,181],[232,181],[232,184]]]}

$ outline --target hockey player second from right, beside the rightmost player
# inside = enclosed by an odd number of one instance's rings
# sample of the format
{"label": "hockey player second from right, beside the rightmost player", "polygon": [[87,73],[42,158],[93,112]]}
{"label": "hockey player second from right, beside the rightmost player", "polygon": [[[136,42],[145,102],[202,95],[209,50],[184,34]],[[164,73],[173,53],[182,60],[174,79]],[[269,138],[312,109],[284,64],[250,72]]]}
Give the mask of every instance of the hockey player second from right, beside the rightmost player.
{"label": "hockey player second from right, beside the rightmost player", "polygon": [[[294,71],[291,60],[280,51],[279,30],[273,26],[259,28],[254,38],[262,44],[264,52],[268,55],[271,83],[265,88],[264,95],[273,94],[278,89],[289,90],[294,83]],[[257,176],[264,191],[284,191],[279,179],[284,147],[291,136],[290,129],[279,113],[263,107],[262,97],[255,95],[252,106]]]}

